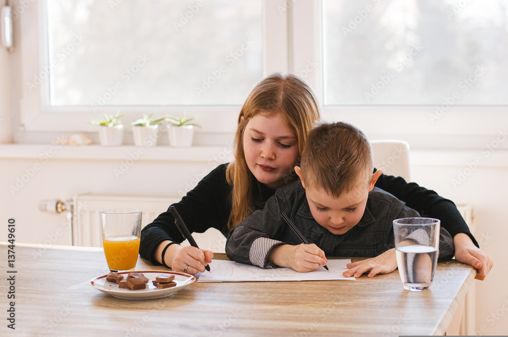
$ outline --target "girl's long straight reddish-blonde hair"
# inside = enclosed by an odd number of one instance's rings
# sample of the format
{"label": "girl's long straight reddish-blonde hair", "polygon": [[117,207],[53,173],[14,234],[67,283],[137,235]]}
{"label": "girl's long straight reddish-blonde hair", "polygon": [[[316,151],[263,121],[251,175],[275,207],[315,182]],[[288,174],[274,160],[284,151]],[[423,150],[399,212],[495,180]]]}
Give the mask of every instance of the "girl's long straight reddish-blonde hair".
{"label": "girl's long straight reddish-blonde hair", "polygon": [[232,185],[229,229],[252,214],[256,207],[264,205],[261,198],[255,198],[255,195],[261,194],[261,185],[250,172],[243,151],[245,127],[249,120],[258,114],[266,116],[280,114],[296,134],[300,156],[307,132],[313,123],[320,119],[319,104],[314,92],[295,74],[273,73],[252,89],[238,117],[234,145],[235,160],[229,164],[226,171],[228,183]]}

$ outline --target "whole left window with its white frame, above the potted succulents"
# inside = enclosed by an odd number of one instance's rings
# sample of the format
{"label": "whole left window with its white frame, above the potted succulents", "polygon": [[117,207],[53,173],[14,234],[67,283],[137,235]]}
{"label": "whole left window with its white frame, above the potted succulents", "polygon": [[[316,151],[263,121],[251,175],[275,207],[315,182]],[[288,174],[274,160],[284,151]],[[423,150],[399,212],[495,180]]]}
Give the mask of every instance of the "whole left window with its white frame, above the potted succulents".
{"label": "whole left window with its white frame, above the potted succulents", "polygon": [[13,97],[22,130],[15,129],[16,139],[93,132],[87,121],[117,110],[128,116],[123,123],[186,111],[200,121],[200,134],[230,134],[252,87],[288,70],[280,29],[287,11],[275,9],[283,0],[23,4],[14,13],[14,76],[23,84]]}

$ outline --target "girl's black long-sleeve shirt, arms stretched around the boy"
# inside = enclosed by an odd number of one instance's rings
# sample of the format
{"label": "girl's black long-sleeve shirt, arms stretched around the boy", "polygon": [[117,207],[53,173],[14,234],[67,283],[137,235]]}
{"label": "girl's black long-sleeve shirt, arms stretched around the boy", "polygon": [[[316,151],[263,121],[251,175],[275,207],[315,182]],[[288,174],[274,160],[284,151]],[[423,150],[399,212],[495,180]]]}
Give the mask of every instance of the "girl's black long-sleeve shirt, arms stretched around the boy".
{"label": "girl's black long-sleeve shirt, arms stretched around the boy", "polygon": [[[231,186],[226,180],[227,167],[228,164],[216,167],[180,202],[173,204],[185,221],[190,233],[203,233],[209,228],[215,228],[228,236]],[[255,196],[255,199],[264,203],[274,195],[275,190],[261,183],[259,186],[259,194]],[[434,191],[427,190],[417,183],[407,183],[401,177],[382,174],[377,179],[375,186],[404,201],[408,207],[417,210],[422,216],[440,219],[441,227],[446,229],[452,238],[458,233],[466,233],[478,246],[452,201],[440,197]],[[259,208],[261,207],[262,205]],[[175,226],[175,218],[169,208],[141,231],[139,254],[149,259],[151,263],[158,264],[154,258],[154,252],[157,246],[165,240],[174,242],[184,240]]]}

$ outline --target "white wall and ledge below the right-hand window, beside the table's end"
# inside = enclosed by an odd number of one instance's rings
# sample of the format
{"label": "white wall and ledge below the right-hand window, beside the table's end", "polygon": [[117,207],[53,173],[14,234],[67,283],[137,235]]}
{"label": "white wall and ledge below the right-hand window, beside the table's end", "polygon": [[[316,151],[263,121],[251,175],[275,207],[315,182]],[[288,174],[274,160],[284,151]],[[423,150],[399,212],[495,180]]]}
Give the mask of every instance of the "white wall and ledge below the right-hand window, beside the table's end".
{"label": "white wall and ledge below the right-hand window, beside the table's end", "polygon": [[[494,268],[484,281],[474,280],[477,286],[475,335],[503,335],[508,331],[508,288],[506,279],[506,238],[508,238],[508,166],[490,163],[473,171],[468,171],[467,163],[477,158],[477,154],[466,156],[469,159],[458,162],[456,166],[414,165],[411,175],[426,188],[433,189],[441,196],[457,203],[469,203],[473,206],[475,227],[474,235],[480,246],[494,260]],[[507,158],[508,153],[497,153],[498,159]],[[499,162],[497,160],[497,162]],[[505,160],[505,159],[504,159]],[[430,159],[430,161],[433,161]],[[421,162],[421,161],[420,161]],[[471,165],[472,167],[472,165]],[[452,183],[459,172],[466,173],[460,184]],[[469,175],[467,175],[470,173]],[[458,180],[457,180],[458,181]]]}

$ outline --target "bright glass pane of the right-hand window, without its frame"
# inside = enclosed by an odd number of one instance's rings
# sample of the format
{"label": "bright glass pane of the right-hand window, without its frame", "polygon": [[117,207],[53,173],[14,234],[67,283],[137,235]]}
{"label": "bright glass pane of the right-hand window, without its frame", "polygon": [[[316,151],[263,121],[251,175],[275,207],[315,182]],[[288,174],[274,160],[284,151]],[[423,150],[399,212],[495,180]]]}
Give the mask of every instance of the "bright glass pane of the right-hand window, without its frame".
{"label": "bright glass pane of the right-hand window, without its frame", "polygon": [[506,105],[508,1],[325,0],[327,105]]}

